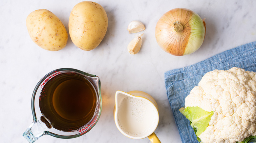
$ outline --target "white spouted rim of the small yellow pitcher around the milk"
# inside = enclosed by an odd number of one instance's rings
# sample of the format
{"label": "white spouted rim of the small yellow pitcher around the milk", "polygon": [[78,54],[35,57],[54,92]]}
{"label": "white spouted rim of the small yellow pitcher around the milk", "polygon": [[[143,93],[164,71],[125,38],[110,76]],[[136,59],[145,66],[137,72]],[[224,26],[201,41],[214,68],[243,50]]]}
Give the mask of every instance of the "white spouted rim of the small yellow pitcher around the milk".
{"label": "white spouted rim of the small yellow pitcher around the milk", "polygon": [[[142,91],[140,91],[140,92],[142,92]],[[148,137],[148,136],[150,136],[152,133],[154,133],[154,131],[156,130],[156,128],[157,128],[157,126],[158,126],[158,123],[159,123],[159,112],[158,112],[158,107],[157,107],[157,105],[155,105],[151,100],[149,100],[149,99],[147,99],[147,98],[145,98],[145,97],[142,97],[142,96],[135,96],[135,95],[132,95],[132,94],[129,94],[129,93],[127,93],[127,92],[124,92],[124,91],[120,91],[120,90],[118,90],[117,92],[116,92],[116,97],[117,97],[117,95],[119,94],[119,93],[122,93],[122,94],[125,94],[125,95],[127,95],[127,96],[130,96],[130,97],[134,97],[134,98],[138,98],[138,99],[142,99],[142,100],[147,100],[147,101],[150,101],[150,103],[152,103],[152,105],[154,105],[154,109],[156,109],[156,111],[157,111],[157,113],[158,113],[158,120],[157,120],[157,123],[155,124],[155,126],[154,127],[152,127],[152,130],[150,131],[150,132],[148,132],[148,134],[146,134],[146,135],[143,135],[143,136],[139,136],[139,137],[136,137],[136,136],[131,136],[131,135],[128,135],[128,134],[126,134],[120,127],[119,127],[119,125],[118,125],[118,120],[117,120],[117,109],[118,109],[118,105],[117,105],[117,98],[115,98],[115,102],[116,102],[116,104],[115,104],[115,124],[116,124],[116,126],[117,126],[117,129],[123,134],[123,135],[125,135],[125,136],[127,136],[127,137],[129,137],[129,138],[132,138],[132,139],[142,139],[142,138],[146,138],[146,137]],[[145,92],[144,92],[145,93]],[[149,95],[150,96],[150,95]]]}

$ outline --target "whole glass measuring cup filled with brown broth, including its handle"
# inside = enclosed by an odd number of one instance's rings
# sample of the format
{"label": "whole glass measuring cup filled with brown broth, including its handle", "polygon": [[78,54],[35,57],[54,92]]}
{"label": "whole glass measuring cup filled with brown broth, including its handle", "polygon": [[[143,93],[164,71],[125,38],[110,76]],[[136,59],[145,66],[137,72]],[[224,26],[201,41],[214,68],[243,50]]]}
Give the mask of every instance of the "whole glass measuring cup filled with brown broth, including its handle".
{"label": "whole glass measuring cup filled with brown broth, including its handle", "polygon": [[42,135],[57,138],[84,135],[95,126],[101,114],[100,79],[71,68],[54,70],[36,85],[31,108],[33,122],[23,134],[29,143]]}

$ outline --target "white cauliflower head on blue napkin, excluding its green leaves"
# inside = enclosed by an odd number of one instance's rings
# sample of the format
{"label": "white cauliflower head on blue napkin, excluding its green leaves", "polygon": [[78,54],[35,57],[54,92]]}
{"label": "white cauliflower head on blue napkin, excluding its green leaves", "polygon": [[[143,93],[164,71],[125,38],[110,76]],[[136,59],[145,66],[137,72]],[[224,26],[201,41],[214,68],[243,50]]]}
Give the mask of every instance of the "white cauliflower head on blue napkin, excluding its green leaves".
{"label": "white cauliflower head on blue napkin, excluding its green leaves", "polygon": [[198,136],[203,143],[236,143],[256,135],[256,73],[233,67],[207,72],[185,107],[214,111]]}

